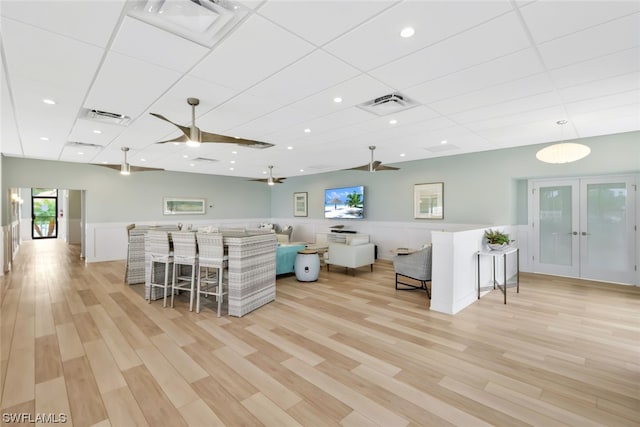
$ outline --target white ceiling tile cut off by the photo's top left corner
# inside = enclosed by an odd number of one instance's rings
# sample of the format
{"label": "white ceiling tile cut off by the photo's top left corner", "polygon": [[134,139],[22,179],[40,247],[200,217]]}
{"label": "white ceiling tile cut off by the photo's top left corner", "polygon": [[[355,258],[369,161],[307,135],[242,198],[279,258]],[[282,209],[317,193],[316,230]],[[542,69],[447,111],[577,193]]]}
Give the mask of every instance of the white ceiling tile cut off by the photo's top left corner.
{"label": "white ceiling tile cut off by the photo's top left corner", "polygon": [[125,0],[3,1],[2,16],[83,43],[106,47]]}

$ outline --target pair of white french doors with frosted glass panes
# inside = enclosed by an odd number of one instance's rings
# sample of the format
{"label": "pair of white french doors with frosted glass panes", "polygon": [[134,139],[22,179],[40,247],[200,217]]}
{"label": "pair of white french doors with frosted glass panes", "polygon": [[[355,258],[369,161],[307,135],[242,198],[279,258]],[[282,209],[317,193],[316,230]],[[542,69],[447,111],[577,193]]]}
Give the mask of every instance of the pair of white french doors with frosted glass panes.
{"label": "pair of white french doors with frosted glass panes", "polygon": [[533,270],[635,283],[633,176],[532,181]]}

